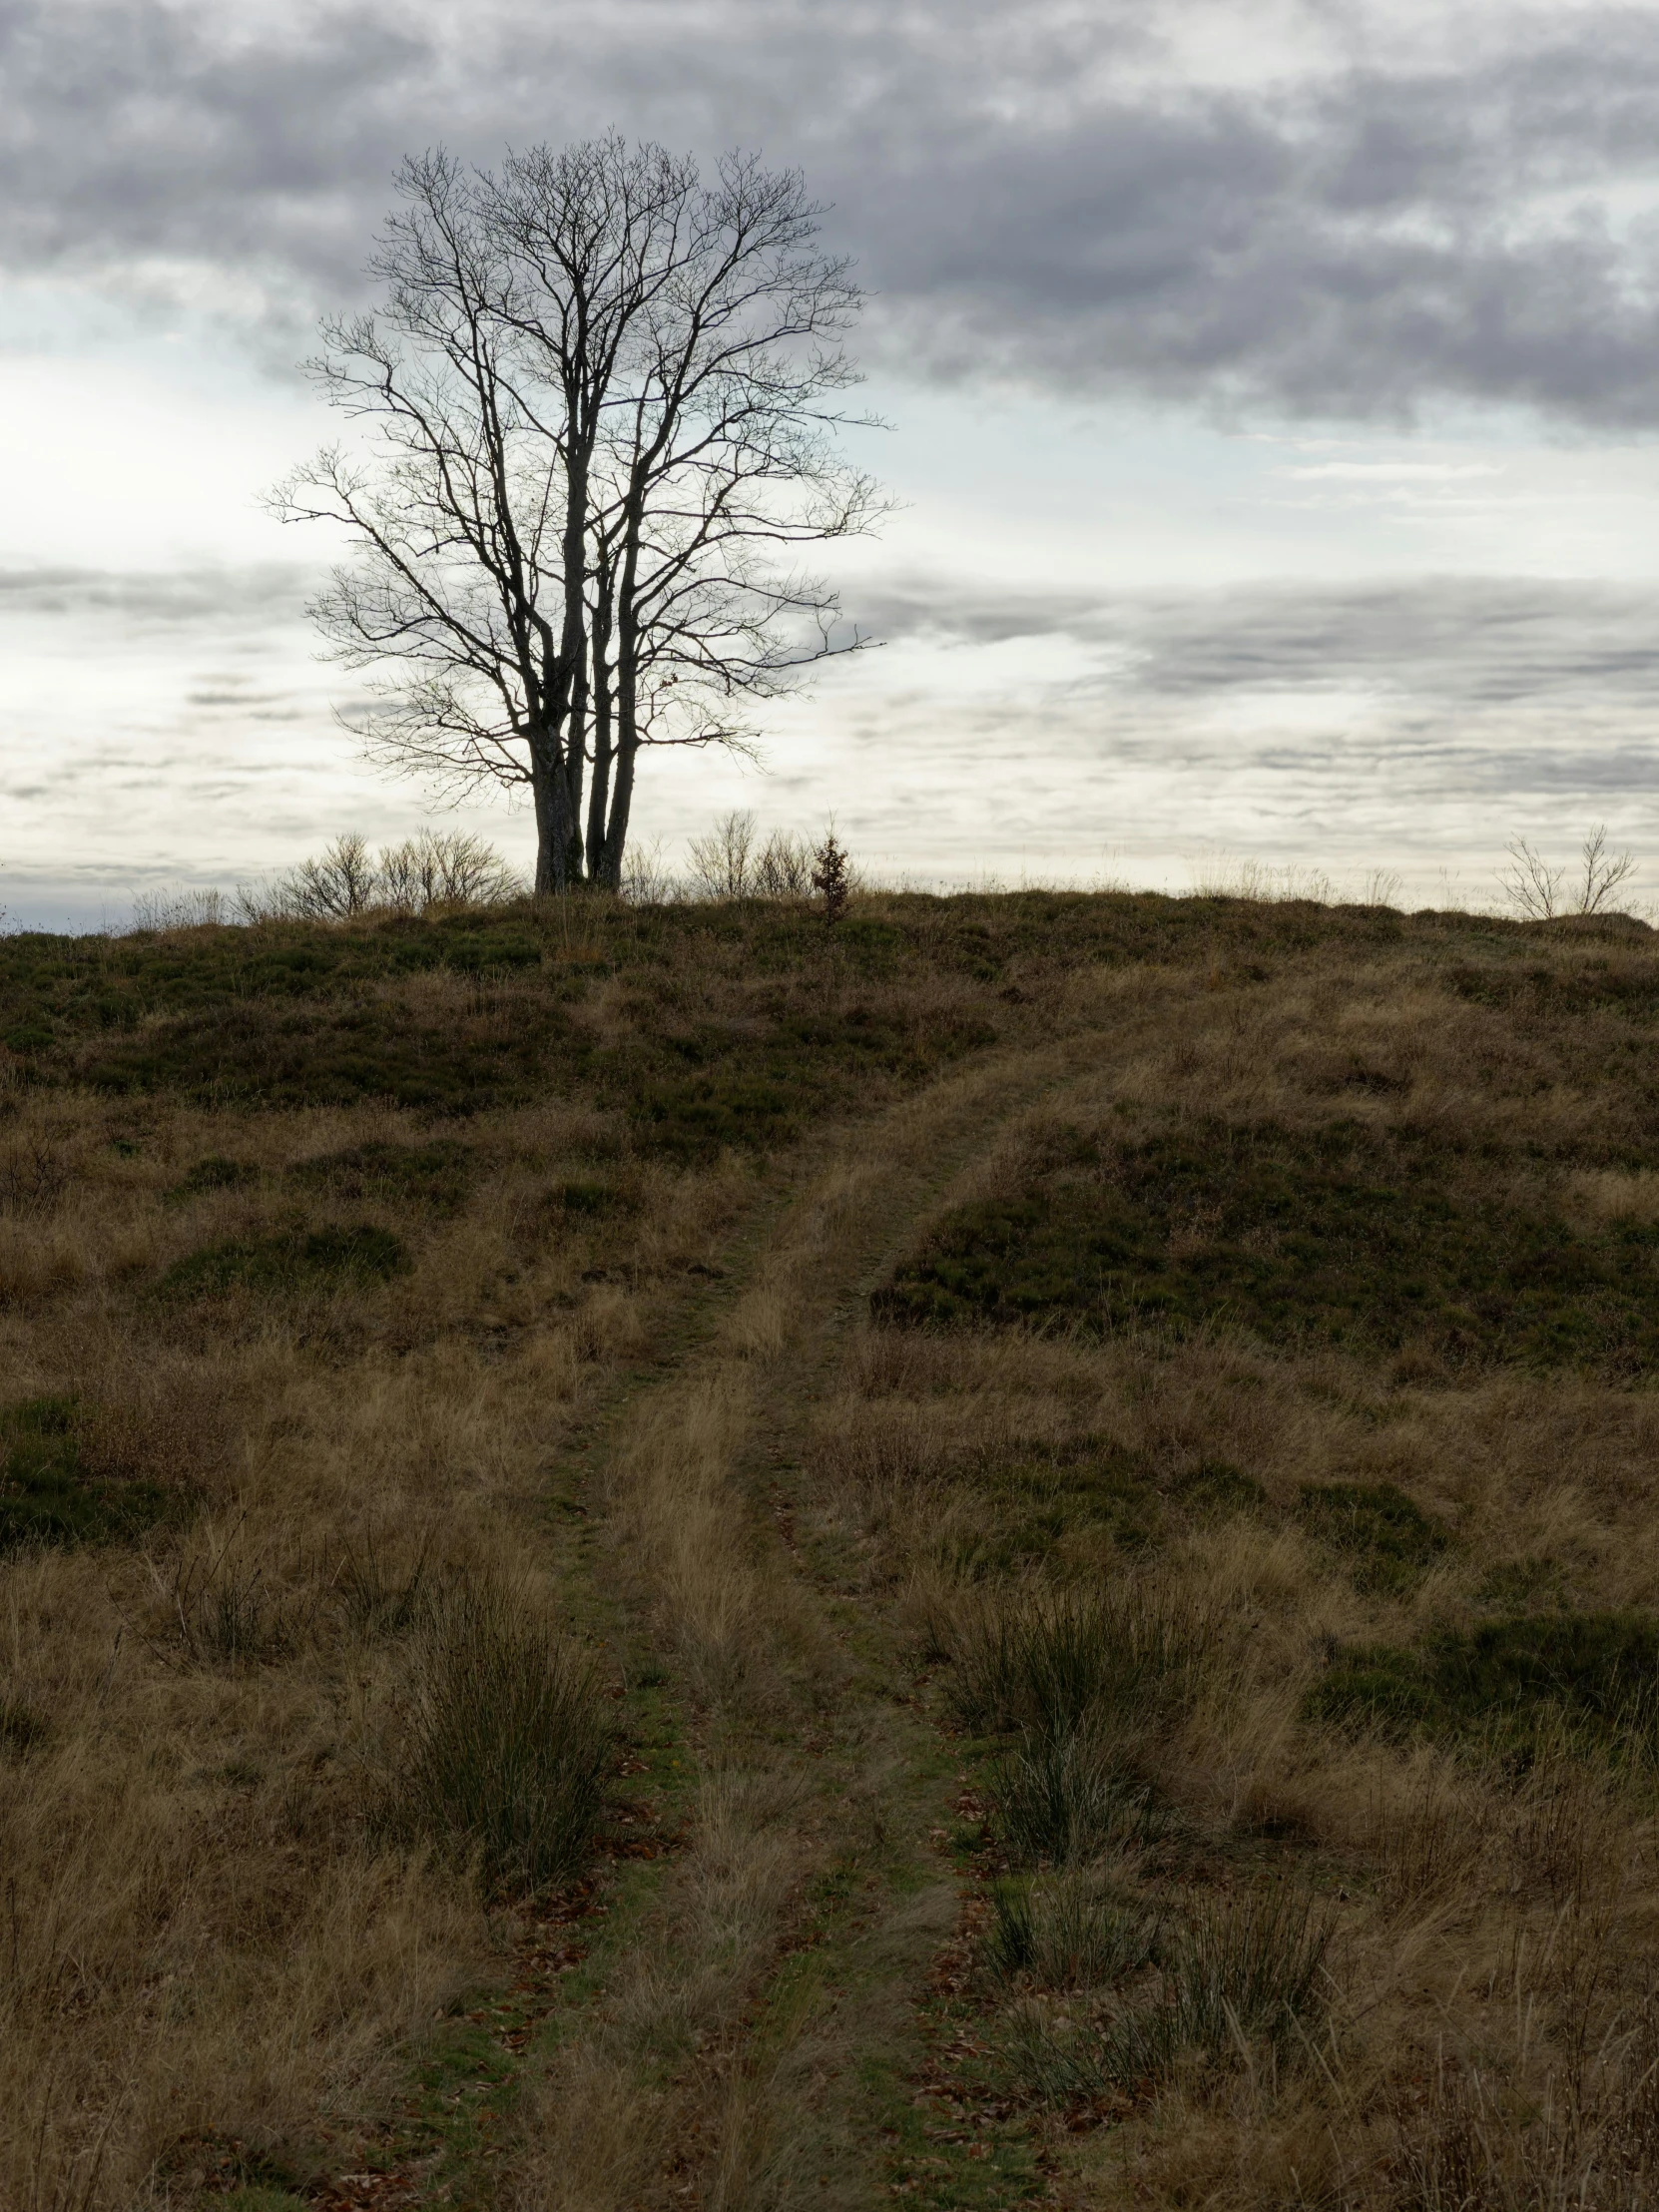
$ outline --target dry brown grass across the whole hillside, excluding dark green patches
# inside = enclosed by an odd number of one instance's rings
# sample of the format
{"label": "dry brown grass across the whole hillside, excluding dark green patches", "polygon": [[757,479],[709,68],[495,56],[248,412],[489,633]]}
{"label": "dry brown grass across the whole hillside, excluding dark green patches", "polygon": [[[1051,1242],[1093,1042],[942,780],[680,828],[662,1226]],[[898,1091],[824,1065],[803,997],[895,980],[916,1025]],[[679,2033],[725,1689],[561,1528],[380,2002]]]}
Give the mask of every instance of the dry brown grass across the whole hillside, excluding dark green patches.
{"label": "dry brown grass across the whole hillside, excluding dark green patches", "polygon": [[[1062,2004],[973,1969],[960,2002],[1057,2201],[1644,2201],[1652,1765],[1566,1725],[1520,1756],[1310,1699],[1332,1652],[1528,1608],[1659,1613],[1648,1378],[1270,1343],[1237,1312],[889,1327],[867,1294],[964,1203],[1018,1192],[1055,1130],[1106,1146],[1152,1121],[1343,1117],[1438,1148],[1498,1208],[1646,1232],[1659,962],[1619,936],[1166,920],[1141,958],[1082,958],[1026,918],[991,960],[894,902],[902,958],[812,940],[783,982],[726,920],[606,973],[593,922],[546,953],[557,991],[595,969],[584,1073],[465,1117],[11,1071],[0,1416],[73,1398],[82,1475],[177,1511],[0,1562],[0,2203],[190,2203],[232,2143],[290,2188],[338,2172],[325,2130],[394,2108],[434,2011],[502,1973],[511,1911],[376,1814],[398,1593],[422,1575],[511,1584],[549,1628],[611,1639],[613,1672],[648,1659],[697,1761],[599,1995],[526,2062],[502,2203],[887,2188],[858,2068],[880,2051],[902,2077],[958,1909],[927,1843],[953,1761],[987,1798],[1006,1772],[1006,1741],[940,1750],[951,1655],[1064,1593],[1203,1621],[1157,1725],[1110,1747],[1157,1820],[1099,1845],[1102,1880],[1188,1929],[1307,1885],[1334,1940],[1301,2046],[1241,2033],[1093,2101],[1077,2006],[1117,2020],[1141,1984]],[[434,969],[349,1006],[449,1035],[453,1075],[513,1051],[540,989]],[[146,1020],[166,1042],[170,1015]],[[779,1062],[686,1097],[730,1135],[772,1128],[765,1084],[794,1084],[787,1152],[633,1117],[630,1084],[748,1068],[772,1020],[805,1024],[810,1082]],[[925,1046],[953,1022],[982,1024],[971,1048]],[[922,1042],[896,1073],[902,1037]],[[834,1082],[818,1051],[852,1053]],[[369,1232],[396,1239],[378,1272],[305,1259]],[[1192,1214],[1168,1250],[1197,1263],[1219,1234]],[[206,1290],[204,1252],[232,1254]],[[1436,1544],[1367,1573],[1310,1515],[1332,1482],[1389,1486]],[[1000,1834],[964,1847],[969,1889]],[[843,1938],[803,1931],[832,1878],[865,1902],[821,1986],[803,1960]],[[1020,2006],[1071,2088],[1020,2073]]]}

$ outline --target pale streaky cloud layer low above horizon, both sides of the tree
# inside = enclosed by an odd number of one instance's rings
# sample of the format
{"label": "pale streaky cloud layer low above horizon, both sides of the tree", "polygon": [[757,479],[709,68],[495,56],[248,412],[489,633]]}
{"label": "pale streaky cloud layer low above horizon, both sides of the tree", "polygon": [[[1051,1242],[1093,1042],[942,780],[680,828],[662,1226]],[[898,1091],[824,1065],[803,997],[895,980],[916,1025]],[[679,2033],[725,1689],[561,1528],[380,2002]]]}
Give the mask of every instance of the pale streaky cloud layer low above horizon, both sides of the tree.
{"label": "pale streaky cloud layer low above horizon, both sides of the tree", "polygon": [[[137,883],[292,863],[338,827],[414,825],[418,787],[367,774],[330,721],[301,586],[265,568],[0,580],[20,699],[0,714],[0,902],[29,909],[29,854],[60,869],[49,856],[73,854],[86,896],[119,905]],[[1559,849],[1599,818],[1659,860],[1659,644],[1637,588],[1442,577],[1037,599],[936,573],[889,580],[878,606],[887,650],[781,719],[770,774],[648,763],[646,841],[661,832],[672,854],[750,805],[794,827],[834,812],[867,865],[916,880],[1181,885],[1230,847],[1352,880],[1405,865],[1420,898],[1447,896],[1442,865],[1484,898],[1515,832]],[[53,719],[44,752],[31,697]],[[526,823],[498,799],[465,818],[522,852]]]}

